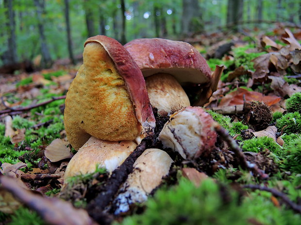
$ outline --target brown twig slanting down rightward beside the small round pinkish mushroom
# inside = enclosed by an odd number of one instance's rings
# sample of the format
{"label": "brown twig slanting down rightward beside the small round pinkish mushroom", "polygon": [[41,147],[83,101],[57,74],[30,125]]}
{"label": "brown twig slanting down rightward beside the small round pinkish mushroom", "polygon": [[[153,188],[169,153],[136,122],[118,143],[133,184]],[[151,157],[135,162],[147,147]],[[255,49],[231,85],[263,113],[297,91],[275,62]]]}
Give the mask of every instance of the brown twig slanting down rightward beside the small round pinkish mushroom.
{"label": "brown twig slanting down rightward beside the small round pinkish mushroom", "polygon": [[217,122],[214,124],[214,129],[216,130],[217,134],[220,135],[220,137],[224,139],[229,147],[234,151],[242,169],[248,169],[249,171],[251,170],[253,173],[259,175],[262,179],[268,178],[268,174],[265,174],[262,170],[260,170],[256,164],[251,164],[249,161],[247,161],[246,156],[238,147],[232,136],[229,135],[226,129],[224,129]]}

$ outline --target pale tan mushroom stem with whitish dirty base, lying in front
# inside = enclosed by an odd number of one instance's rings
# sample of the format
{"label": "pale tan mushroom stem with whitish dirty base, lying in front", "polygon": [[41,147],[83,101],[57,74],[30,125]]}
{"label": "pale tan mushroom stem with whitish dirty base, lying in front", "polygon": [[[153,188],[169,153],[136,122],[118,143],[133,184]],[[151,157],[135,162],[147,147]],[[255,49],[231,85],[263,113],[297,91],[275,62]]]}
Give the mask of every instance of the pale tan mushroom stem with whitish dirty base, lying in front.
{"label": "pale tan mushroom stem with whitish dirty base, lying in front", "polygon": [[167,176],[172,162],[163,150],[145,150],[134,163],[133,172],[122,185],[120,194],[114,201],[114,205],[117,206],[115,214],[128,211],[134,203],[146,201],[152,190],[162,182],[162,178]]}

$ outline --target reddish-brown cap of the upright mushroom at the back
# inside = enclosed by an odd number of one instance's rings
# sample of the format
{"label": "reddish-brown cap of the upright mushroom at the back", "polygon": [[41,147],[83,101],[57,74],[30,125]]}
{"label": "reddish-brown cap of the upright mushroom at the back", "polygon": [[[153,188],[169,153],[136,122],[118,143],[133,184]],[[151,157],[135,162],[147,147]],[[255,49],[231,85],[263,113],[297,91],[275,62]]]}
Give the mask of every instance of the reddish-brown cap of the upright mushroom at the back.
{"label": "reddish-brown cap of the upright mushroom at the back", "polygon": [[138,64],[144,77],[171,74],[181,83],[209,83],[211,71],[192,45],[162,38],[135,39],[124,47]]}

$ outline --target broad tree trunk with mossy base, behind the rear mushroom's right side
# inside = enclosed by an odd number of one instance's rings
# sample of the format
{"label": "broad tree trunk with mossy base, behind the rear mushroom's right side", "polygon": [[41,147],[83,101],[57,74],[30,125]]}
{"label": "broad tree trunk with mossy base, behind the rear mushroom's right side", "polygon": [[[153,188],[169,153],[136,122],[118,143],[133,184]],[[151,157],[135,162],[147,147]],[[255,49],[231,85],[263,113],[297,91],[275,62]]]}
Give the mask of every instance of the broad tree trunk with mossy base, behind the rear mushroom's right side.
{"label": "broad tree trunk with mossy base, behind the rear mushroom's right side", "polygon": [[198,0],[183,0],[182,33],[191,36],[203,30],[203,21]]}

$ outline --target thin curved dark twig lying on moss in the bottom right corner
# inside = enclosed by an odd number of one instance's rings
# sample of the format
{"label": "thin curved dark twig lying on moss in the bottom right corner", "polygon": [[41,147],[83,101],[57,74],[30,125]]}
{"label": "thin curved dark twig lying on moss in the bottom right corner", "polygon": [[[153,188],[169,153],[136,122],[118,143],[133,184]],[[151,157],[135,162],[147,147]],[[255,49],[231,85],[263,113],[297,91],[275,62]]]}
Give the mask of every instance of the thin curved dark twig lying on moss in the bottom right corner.
{"label": "thin curved dark twig lying on moss in the bottom right corner", "polygon": [[295,212],[298,212],[301,214],[301,206],[297,205],[296,203],[292,202],[284,193],[279,192],[275,189],[272,188],[268,188],[268,187],[264,187],[264,186],[260,186],[260,185],[256,185],[256,184],[247,184],[243,186],[244,188],[251,188],[251,189],[257,189],[260,191],[266,191],[266,192],[270,192],[272,193],[274,196],[276,197],[280,197],[284,203],[289,206],[292,210],[294,210]]}

